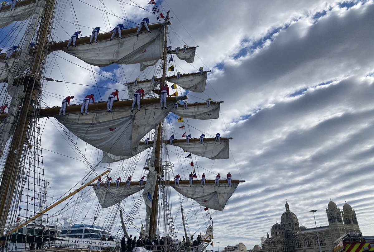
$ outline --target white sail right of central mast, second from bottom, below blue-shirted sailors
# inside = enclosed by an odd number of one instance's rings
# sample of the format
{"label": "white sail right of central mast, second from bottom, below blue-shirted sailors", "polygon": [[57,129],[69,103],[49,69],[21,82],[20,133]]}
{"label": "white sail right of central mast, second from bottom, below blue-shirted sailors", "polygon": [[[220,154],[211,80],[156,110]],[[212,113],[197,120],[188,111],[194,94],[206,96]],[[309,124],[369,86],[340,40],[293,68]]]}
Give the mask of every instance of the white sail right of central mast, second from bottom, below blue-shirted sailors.
{"label": "white sail right of central mast, second from bottom, below blue-shirted sailors", "polygon": [[173,145],[182,148],[192,154],[200,157],[207,157],[208,159],[228,159],[229,158],[229,141],[231,138],[221,139],[221,144],[214,143],[214,141],[204,141],[204,144],[199,142],[174,142]]}

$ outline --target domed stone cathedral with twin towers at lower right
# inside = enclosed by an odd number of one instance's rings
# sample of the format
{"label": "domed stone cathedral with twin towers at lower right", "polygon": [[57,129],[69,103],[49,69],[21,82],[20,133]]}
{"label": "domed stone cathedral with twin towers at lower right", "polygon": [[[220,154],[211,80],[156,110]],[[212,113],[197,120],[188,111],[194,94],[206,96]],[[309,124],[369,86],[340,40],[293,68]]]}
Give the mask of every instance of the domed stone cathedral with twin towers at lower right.
{"label": "domed stone cathedral with twin towers at lower right", "polygon": [[[256,245],[260,252],[319,252],[316,228],[300,226],[297,216],[289,210],[286,202],[286,211],[281,216],[281,223],[273,225],[271,237],[266,234],[262,246]],[[322,252],[332,252],[334,242],[347,232],[360,233],[356,212],[345,203],[343,210],[331,200],[326,209],[328,225],[318,227],[318,236]]]}

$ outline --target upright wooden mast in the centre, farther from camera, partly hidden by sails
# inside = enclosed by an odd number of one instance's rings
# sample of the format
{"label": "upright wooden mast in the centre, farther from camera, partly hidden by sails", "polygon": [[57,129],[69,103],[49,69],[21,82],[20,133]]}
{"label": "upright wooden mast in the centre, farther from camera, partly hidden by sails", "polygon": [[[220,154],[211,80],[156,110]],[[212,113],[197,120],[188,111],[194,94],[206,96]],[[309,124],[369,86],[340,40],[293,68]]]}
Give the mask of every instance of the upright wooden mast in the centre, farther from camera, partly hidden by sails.
{"label": "upright wooden mast in the centre, farther from camera, partly hidden by sails", "polygon": [[[166,12],[166,17],[164,19],[165,24],[169,21],[169,10]],[[164,26],[164,53],[163,53],[163,66],[162,66],[162,77],[160,81],[160,88],[165,86],[166,84],[166,54],[167,52],[167,44],[168,44],[168,25]],[[162,123],[159,123],[158,130],[157,130],[157,140],[156,140],[156,151],[154,156],[154,168],[157,171],[157,181],[156,186],[154,188],[154,194],[152,199],[152,212],[150,216],[150,230],[149,236],[150,237],[157,237],[157,215],[159,211],[159,176],[163,172],[161,160],[161,139],[162,134]]]}

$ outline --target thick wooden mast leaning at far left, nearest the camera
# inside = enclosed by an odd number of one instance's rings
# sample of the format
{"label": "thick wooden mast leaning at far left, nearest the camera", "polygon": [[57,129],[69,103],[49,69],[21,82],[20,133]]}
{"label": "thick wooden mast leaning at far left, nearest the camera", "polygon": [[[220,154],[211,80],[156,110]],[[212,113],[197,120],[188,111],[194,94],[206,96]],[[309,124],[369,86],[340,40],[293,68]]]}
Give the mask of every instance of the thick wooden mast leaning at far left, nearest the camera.
{"label": "thick wooden mast leaning at far left, nearest the camera", "polygon": [[[30,49],[30,41],[39,25],[37,31],[37,44],[33,53],[33,60],[31,62],[30,75],[25,75],[17,80],[10,81],[9,85],[24,86],[24,99],[22,101],[21,110],[19,111],[19,120],[15,122],[12,142],[10,143],[9,154],[6,157],[4,164],[4,172],[1,178],[0,185],[0,235],[6,233],[6,225],[9,223],[10,208],[13,197],[9,195],[16,195],[15,188],[17,182],[17,174],[19,171],[20,161],[24,150],[25,142],[27,141],[27,132],[30,128],[30,123],[33,122],[34,104],[38,104],[39,93],[42,90],[40,85],[40,78],[33,76],[40,76],[43,63],[46,56],[47,42],[50,35],[51,21],[53,9],[55,7],[55,0],[39,0],[37,7],[32,16],[30,28],[25,37],[24,48],[22,53],[28,53]],[[41,20],[40,20],[41,19]],[[31,31],[31,32],[30,32]],[[22,55],[18,62],[18,66],[24,64]],[[3,229],[3,227],[5,227]]]}

